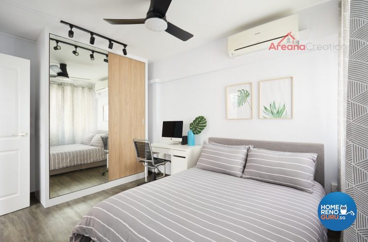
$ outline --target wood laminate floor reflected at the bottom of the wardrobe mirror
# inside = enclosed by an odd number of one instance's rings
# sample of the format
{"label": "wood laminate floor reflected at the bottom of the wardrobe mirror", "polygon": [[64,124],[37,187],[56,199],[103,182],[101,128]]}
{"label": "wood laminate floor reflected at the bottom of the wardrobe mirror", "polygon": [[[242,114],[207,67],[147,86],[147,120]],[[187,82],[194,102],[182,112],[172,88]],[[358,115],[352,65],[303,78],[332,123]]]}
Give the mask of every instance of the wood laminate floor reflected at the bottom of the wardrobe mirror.
{"label": "wood laminate floor reflected at the bottom of the wardrobe mirror", "polygon": [[50,197],[60,196],[108,182],[106,166],[71,171],[50,177]]}

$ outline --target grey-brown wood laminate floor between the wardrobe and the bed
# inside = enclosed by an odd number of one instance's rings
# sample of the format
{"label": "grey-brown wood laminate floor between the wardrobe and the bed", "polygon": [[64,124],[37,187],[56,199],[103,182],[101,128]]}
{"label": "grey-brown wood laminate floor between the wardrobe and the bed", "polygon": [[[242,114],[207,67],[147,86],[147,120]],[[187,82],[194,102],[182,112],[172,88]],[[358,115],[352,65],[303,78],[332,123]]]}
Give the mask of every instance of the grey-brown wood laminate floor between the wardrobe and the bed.
{"label": "grey-brown wood laminate floor between the wardrobe and the bed", "polygon": [[[0,216],[0,242],[69,242],[74,226],[95,204],[144,182],[132,181],[50,208],[36,197],[30,207]],[[340,232],[328,231],[329,242],[339,242]]]}

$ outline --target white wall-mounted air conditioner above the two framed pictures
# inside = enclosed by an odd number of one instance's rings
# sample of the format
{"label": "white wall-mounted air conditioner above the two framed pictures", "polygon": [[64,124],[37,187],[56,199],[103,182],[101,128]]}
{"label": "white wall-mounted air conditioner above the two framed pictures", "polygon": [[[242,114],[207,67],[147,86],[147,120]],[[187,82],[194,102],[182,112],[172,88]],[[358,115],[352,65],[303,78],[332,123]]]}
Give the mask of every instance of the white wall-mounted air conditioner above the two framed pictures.
{"label": "white wall-mounted air conditioner above the two framed pictures", "polygon": [[[291,15],[230,36],[228,38],[228,52],[233,57],[263,50],[269,48],[272,42],[276,45],[289,32],[297,39],[298,31],[298,15]],[[286,43],[286,40],[283,43]]]}

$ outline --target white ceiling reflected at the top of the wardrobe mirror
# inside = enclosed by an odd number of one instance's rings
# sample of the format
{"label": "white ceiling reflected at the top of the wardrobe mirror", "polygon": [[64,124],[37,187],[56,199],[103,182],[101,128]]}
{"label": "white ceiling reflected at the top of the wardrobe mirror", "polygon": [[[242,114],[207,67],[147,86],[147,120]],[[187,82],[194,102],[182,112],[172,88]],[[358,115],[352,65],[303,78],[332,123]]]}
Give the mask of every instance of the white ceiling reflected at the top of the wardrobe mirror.
{"label": "white ceiling reflected at the top of the wardrobe mirror", "polygon": [[[102,49],[90,47],[82,43],[78,43],[76,41],[68,40],[58,36],[51,36],[51,38],[62,40],[64,42],[68,42],[70,44],[77,45],[79,47],[89,48],[91,50],[107,54],[107,52]],[[107,79],[108,66],[107,63],[104,62],[105,59],[104,55],[95,53],[94,54],[95,60],[91,61],[91,58],[89,56],[92,53],[91,51],[77,48],[79,55],[76,56],[72,53],[72,51],[75,50],[73,46],[59,43],[59,46],[61,47],[61,49],[59,50],[54,50],[53,49],[54,46],[56,46],[56,42],[50,40],[50,64],[51,65],[59,65],[60,63],[66,64],[67,71],[71,80],[95,84],[99,81],[104,81]],[[50,74],[53,74],[53,71],[50,70]],[[89,80],[82,80],[76,78],[83,78]]]}

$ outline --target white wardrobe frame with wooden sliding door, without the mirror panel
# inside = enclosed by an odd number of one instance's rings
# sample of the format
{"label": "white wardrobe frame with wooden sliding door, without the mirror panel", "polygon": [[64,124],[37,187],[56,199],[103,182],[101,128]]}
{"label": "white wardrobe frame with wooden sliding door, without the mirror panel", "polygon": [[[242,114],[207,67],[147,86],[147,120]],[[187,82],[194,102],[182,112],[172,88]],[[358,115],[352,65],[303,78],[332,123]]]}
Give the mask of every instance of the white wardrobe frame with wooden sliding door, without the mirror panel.
{"label": "white wardrobe frame with wooden sliding door, without the mirror panel", "polygon": [[[147,59],[108,52],[108,182],[77,192],[50,198],[49,180],[49,36],[68,38],[66,33],[44,29],[37,39],[39,72],[36,73],[36,196],[50,207],[81,196],[145,177],[136,161],[133,139],[147,138]],[[88,45],[88,39],[73,38]],[[105,46],[98,46],[105,49]],[[120,51],[121,52],[121,51]]]}

